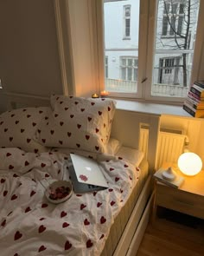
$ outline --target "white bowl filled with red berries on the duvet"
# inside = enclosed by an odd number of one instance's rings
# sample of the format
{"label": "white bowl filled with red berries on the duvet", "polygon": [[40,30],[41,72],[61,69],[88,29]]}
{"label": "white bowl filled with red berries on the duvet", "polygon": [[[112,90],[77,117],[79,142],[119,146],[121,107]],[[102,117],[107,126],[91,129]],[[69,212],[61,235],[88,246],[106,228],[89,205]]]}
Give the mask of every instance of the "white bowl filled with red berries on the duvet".
{"label": "white bowl filled with red berries on the duvet", "polygon": [[68,200],[73,194],[73,186],[70,181],[54,181],[46,190],[48,201],[60,204]]}

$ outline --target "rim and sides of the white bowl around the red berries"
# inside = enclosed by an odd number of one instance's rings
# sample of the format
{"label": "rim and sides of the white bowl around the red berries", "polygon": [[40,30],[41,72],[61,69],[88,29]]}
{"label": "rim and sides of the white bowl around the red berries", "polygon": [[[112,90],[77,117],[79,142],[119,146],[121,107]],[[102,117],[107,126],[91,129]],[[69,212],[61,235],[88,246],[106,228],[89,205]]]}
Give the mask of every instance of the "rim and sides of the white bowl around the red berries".
{"label": "rim and sides of the white bowl around the red berries", "polygon": [[[70,193],[67,194],[66,197],[62,198],[62,199],[57,199],[57,200],[53,200],[49,197],[50,195],[50,190],[55,190],[57,187],[69,187],[70,189]],[[52,184],[49,185],[49,187],[46,189],[45,195],[48,199],[48,201],[50,201],[53,204],[60,204],[66,200],[68,200],[73,194],[73,185],[70,181],[54,181]]]}

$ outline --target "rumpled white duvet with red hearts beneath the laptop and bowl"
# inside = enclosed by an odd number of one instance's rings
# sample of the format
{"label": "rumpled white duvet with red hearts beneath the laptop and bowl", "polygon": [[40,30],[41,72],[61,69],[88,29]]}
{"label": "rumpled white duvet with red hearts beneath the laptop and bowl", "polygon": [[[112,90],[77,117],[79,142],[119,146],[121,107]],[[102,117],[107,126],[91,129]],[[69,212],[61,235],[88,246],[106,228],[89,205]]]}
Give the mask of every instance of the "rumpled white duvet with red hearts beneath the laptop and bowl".
{"label": "rumpled white duvet with red hearts beneath the laptop and bowl", "polygon": [[52,205],[44,192],[50,181],[68,174],[67,154],[24,154],[22,165],[31,169],[23,172],[15,168],[19,161],[15,154],[12,148],[0,152],[0,161],[10,158],[9,166],[0,168],[1,256],[99,255],[114,218],[137,184],[140,169],[120,156],[101,154],[98,161],[109,188],[73,194],[65,203]]}

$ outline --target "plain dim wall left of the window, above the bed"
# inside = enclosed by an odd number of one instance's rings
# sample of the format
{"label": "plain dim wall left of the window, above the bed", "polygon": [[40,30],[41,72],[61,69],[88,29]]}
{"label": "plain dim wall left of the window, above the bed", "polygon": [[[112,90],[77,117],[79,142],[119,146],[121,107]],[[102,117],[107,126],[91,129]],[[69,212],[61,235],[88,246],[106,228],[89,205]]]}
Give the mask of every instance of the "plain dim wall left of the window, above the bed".
{"label": "plain dim wall left of the window, above the bed", "polygon": [[62,93],[54,2],[0,1],[0,78],[8,92]]}

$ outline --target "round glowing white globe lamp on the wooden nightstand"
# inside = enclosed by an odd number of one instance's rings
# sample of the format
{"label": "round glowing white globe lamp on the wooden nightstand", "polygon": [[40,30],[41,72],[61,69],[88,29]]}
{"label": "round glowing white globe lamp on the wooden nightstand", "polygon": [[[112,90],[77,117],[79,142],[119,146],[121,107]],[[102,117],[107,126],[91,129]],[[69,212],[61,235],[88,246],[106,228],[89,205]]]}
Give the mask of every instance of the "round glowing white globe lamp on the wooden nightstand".
{"label": "round glowing white globe lamp on the wooden nightstand", "polygon": [[178,159],[178,167],[183,174],[194,176],[201,171],[201,158],[192,152],[186,152],[180,155]]}

